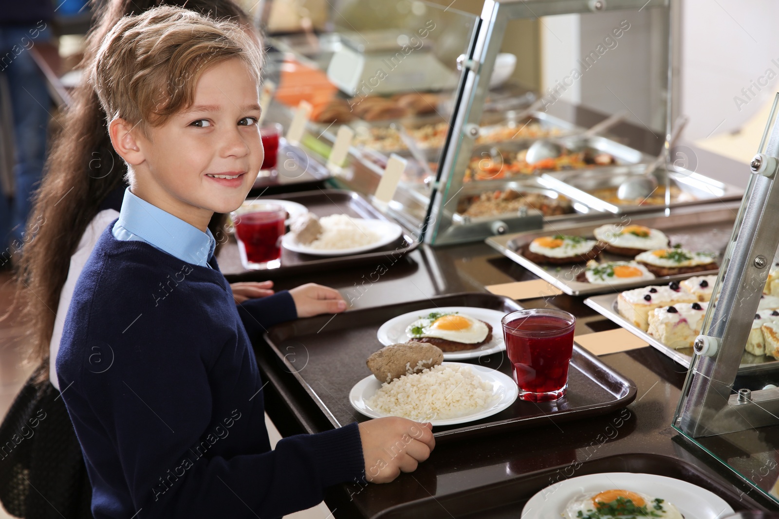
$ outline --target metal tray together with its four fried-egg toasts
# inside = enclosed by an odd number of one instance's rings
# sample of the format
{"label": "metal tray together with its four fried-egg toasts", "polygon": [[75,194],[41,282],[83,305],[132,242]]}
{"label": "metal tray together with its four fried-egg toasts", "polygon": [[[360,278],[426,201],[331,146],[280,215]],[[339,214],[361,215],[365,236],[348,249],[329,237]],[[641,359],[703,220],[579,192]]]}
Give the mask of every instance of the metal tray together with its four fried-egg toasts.
{"label": "metal tray together with its four fried-egg toasts", "polygon": [[546,224],[486,243],[572,296],[667,284],[719,270],[738,205],[708,209]]}

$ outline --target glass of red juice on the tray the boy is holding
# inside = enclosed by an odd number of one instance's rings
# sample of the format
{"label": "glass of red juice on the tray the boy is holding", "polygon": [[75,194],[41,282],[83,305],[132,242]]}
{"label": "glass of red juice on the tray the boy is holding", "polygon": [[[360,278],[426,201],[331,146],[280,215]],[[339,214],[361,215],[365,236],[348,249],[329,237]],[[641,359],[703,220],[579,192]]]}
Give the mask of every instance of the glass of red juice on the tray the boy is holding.
{"label": "glass of red juice on the tray the boy is holding", "polygon": [[522,400],[548,402],[566,395],[576,317],[530,308],[502,318],[506,353]]}

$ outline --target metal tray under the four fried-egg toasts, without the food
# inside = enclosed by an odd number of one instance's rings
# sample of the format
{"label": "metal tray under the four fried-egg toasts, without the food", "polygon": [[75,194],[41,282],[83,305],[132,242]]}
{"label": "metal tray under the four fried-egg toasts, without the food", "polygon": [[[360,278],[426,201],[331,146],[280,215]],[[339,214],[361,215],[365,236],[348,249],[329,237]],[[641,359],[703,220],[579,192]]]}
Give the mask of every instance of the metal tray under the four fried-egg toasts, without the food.
{"label": "metal tray under the four fried-egg toasts, without the food", "polygon": [[[571,296],[584,296],[613,292],[615,290],[622,291],[647,285],[662,285],[671,281],[687,279],[693,275],[717,274],[718,271],[714,270],[695,272],[693,274],[665,275],[650,280],[643,279],[641,281],[619,283],[619,285],[595,285],[593,283],[576,281],[576,275],[583,271],[583,263],[576,265],[538,265],[534,261],[525,258],[520,252],[522,247],[536,238],[549,236],[550,234],[592,237],[593,230],[596,227],[606,223],[620,223],[622,225],[642,225],[661,230],[671,240],[671,244],[682,244],[683,247],[691,251],[716,252],[717,263],[719,263],[724,248],[728,245],[731,237],[738,205],[720,205],[710,208],[709,211],[702,211],[700,208],[696,208],[694,211],[692,210],[693,208],[685,209],[687,210],[684,212],[680,210],[672,212],[670,216],[664,216],[664,212],[657,212],[651,215],[642,215],[641,218],[633,217],[619,221],[615,221],[612,218],[589,221],[586,224],[578,225],[550,225],[545,226],[543,231],[489,237],[486,243]],[[626,256],[618,256],[604,251],[598,258],[598,262],[629,261],[630,259]]]}

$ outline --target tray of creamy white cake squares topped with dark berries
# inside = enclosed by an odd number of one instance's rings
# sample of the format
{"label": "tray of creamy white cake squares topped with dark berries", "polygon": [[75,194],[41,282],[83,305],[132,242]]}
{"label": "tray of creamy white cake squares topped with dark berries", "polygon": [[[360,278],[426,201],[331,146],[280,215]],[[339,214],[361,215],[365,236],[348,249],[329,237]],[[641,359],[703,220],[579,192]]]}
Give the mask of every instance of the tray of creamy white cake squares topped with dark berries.
{"label": "tray of creamy white cake squares topped with dark berries", "polygon": [[[693,342],[700,335],[707,307],[717,299],[712,296],[716,281],[717,275],[694,276],[682,282],[593,296],[584,303],[689,368]],[[777,359],[779,264],[774,264],[749,331],[741,366],[772,363]]]}

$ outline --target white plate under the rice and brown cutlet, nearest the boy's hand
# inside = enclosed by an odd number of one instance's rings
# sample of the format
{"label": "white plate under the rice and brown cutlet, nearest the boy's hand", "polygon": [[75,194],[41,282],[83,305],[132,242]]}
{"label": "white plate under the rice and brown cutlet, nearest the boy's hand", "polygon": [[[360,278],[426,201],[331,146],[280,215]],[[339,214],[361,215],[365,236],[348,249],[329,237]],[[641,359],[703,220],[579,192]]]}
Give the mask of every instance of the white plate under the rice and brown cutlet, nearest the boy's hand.
{"label": "white plate under the rice and brown cutlet, nearest the boy's hand", "polygon": [[[481,380],[485,380],[489,384],[492,384],[492,392],[497,398],[492,400],[487,408],[481,409],[481,411],[472,412],[470,415],[459,416],[457,418],[450,418],[446,420],[431,420],[433,426],[451,426],[456,423],[468,423],[474,422],[492,416],[495,413],[501,412],[503,409],[512,405],[516,400],[516,396],[519,395],[519,387],[516,387],[516,382],[511,377],[504,375],[503,373],[493,370],[485,366],[479,366],[478,364],[466,364],[466,363],[443,363],[443,366],[470,366],[474,374],[481,377]],[[383,418],[387,416],[381,412],[375,411],[368,407],[365,403],[368,398],[371,398],[382,387],[382,383],[379,379],[371,375],[360,380],[349,391],[349,403],[358,412],[361,412],[365,416],[371,418]],[[558,518],[559,519],[559,518]]]}

